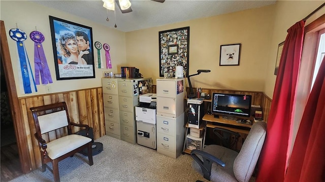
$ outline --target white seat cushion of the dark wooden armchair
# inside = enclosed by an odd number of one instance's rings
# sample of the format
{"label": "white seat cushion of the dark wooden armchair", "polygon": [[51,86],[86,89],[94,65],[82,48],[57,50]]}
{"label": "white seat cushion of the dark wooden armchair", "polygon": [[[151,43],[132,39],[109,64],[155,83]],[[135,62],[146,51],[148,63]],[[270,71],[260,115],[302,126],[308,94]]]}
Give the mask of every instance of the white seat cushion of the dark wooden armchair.
{"label": "white seat cushion of the dark wooden armchair", "polygon": [[77,134],[71,134],[48,142],[46,151],[51,159],[56,159],[90,141],[91,138]]}

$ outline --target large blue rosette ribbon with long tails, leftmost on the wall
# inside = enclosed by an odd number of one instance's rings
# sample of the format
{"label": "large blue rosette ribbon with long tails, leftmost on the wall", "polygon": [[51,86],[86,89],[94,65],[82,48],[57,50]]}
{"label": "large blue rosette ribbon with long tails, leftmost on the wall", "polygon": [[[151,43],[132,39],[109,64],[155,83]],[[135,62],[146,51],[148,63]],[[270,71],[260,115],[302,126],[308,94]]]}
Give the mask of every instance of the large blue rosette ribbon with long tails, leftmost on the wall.
{"label": "large blue rosette ribbon with long tails, leftmost on the wall", "polygon": [[[12,28],[9,30],[9,35],[11,39],[17,43],[17,57],[20,63],[21,72],[19,75],[19,80],[22,80],[24,93],[37,92],[37,87],[35,84],[34,76],[32,75],[31,66],[27,56],[26,48],[23,43],[27,39],[27,35],[24,31],[18,28]],[[21,85],[20,85],[21,86]]]}

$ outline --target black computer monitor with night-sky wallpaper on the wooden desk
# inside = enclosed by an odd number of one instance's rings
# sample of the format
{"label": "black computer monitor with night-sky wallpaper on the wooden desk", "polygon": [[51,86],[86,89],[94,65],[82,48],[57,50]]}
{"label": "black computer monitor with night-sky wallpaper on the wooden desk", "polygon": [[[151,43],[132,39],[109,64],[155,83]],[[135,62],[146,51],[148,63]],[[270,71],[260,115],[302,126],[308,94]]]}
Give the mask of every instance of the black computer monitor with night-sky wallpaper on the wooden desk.
{"label": "black computer monitor with night-sky wallpaper on the wooden desk", "polygon": [[212,93],[212,114],[250,117],[251,95]]}

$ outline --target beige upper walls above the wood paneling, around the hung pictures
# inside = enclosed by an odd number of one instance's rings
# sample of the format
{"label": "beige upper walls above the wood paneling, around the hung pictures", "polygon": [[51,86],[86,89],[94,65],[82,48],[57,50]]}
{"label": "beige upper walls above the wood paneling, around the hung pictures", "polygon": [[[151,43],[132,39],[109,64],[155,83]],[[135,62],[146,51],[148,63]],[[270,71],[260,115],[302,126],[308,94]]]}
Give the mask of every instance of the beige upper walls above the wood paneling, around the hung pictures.
{"label": "beige upper walls above the wood paneling, around the hung pictures", "polygon": [[[43,47],[52,74],[52,93],[101,86],[102,71],[95,69],[95,79],[56,81],[48,16],[67,19],[92,27],[93,42],[108,43],[111,47],[112,70],[120,66],[136,66],[144,77],[159,78],[158,32],[190,27],[189,74],[197,69],[211,72],[191,77],[193,87],[264,91],[272,98],[276,76],[274,66],[278,44],[285,40],[286,30],[303,19],[323,1],[278,1],[275,5],[242,12],[219,15],[147,28],[121,32],[83,18],[43,7],[26,1],[1,1],[1,20],[9,29],[18,28],[27,34],[35,30],[45,35]],[[19,6],[18,6],[19,5]],[[321,10],[321,14],[325,10]],[[220,45],[242,44],[239,66],[219,66]],[[45,94],[46,86],[39,85],[38,92],[21,94],[15,42],[8,36],[8,44],[15,74],[18,97]],[[25,41],[27,54],[34,68],[34,42]]]}

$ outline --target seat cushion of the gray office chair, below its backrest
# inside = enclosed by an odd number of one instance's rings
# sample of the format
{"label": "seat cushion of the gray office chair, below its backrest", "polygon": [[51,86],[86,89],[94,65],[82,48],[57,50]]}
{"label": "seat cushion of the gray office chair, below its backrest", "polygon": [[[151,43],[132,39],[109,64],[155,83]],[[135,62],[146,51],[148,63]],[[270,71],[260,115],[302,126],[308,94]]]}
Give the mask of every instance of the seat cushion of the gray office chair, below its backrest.
{"label": "seat cushion of the gray office chair, below its backrest", "polygon": [[[221,145],[211,144],[203,149],[204,152],[209,153],[225,163],[225,167],[212,164],[211,167],[211,181],[237,181],[233,172],[233,164],[238,152],[222,147]],[[201,160],[202,157],[198,156]],[[200,171],[203,175],[202,169],[199,164],[193,160],[192,167],[196,171]]]}

